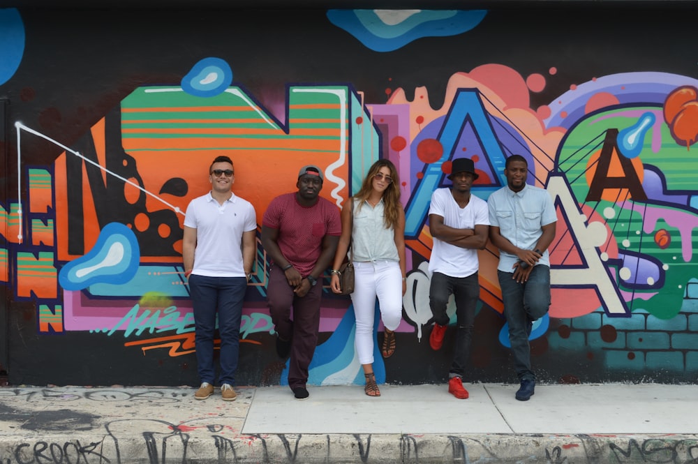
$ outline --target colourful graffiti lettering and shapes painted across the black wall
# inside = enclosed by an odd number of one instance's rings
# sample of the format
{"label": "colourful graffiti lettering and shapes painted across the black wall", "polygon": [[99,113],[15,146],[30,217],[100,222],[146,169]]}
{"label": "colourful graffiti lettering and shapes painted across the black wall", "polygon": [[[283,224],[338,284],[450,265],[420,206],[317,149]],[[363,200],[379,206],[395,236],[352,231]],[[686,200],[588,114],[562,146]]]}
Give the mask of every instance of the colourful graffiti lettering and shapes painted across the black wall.
{"label": "colourful graffiti lettering and shapes painted across the black wall", "polygon": [[[34,29],[24,29],[22,11],[0,12],[23,43]],[[356,41],[343,47],[390,59],[426,38],[447,43],[468,36],[489,17],[485,11],[387,18],[328,10],[331,25],[322,28],[348,31]],[[449,27],[438,27],[440,21]],[[599,75],[538,105],[532,95],[547,91],[558,68],[524,75],[516,66],[484,62],[433,77],[447,82],[442,102],[428,84],[395,85],[378,99],[341,73],[332,83],[309,74],[302,83],[285,80],[283,93],[260,91],[230,57],[209,52],[170,59],[179,74],[134,85],[101,114],[84,117],[79,133],[46,130],[50,124],[33,125],[10,109],[16,170],[5,173],[12,188],[0,205],[0,281],[12,295],[10,319],[24,317],[24,331],[40,340],[64,338],[67,352],[103,344],[105,356],[125,356],[113,377],[94,373],[105,361],[88,358],[79,373],[42,374],[34,361],[34,369],[10,368],[10,380],[142,384],[150,374],[128,370],[142,362],[144,369],[165,366],[165,384],[195,383],[188,367],[195,345],[182,223],[188,202],[207,190],[207,177],[195,173],[206,172],[217,154],[234,160],[235,192],[255,205],[259,227],[269,201],[293,190],[298,166],[320,166],[321,195],[339,207],[376,159],[396,165],[406,211],[408,292],[396,357],[383,362],[376,351],[378,382],[445,377],[438,366],[448,354],[423,343],[431,324],[431,193],[450,185],[454,158],[468,157],[479,174],[473,193],[487,200],[505,185],[504,163],[512,154],[528,160],[528,183],[547,188],[558,214],[550,247],[552,305],[530,338],[540,377],[695,380],[695,78],[661,70]],[[8,66],[0,70],[15,73],[17,66]],[[22,82],[0,80],[0,92],[12,95],[17,86]],[[54,155],[47,159],[37,147]],[[498,252],[489,244],[479,256],[472,380],[513,380]],[[241,377],[252,384],[287,382],[265,304],[268,265],[258,241],[241,329]],[[327,277],[310,382],[361,384],[350,300],[329,292]],[[10,358],[24,364],[15,347],[10,343]],[[415,359],[423,368],[415,368]]]}

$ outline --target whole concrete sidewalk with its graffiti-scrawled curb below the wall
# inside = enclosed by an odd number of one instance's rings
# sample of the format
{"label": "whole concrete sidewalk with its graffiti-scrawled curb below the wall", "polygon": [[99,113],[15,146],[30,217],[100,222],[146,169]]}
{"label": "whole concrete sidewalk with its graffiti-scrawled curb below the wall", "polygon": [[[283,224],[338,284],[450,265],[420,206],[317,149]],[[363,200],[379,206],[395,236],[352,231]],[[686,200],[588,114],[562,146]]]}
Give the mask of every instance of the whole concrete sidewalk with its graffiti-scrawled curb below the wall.
{"label": "whole concrete sidewalk with its graffiti-scrawled curb below the wall", "polygon": [[698,385],[2,387],[0,464],[685,463],[698,458]]}

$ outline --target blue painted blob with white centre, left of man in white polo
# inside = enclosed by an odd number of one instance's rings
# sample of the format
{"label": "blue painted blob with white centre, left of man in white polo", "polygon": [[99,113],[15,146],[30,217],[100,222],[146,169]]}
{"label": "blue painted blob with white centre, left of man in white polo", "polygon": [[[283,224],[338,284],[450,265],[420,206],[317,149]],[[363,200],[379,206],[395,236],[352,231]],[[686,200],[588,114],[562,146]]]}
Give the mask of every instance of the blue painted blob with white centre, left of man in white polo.
{"label": "blue painted blob with white centre, left of man in white polo", "polygon": [[65,290],[82,290],[94,283],[127,283],[140,262],[140,247],[133,231],[120,223],[107,224],[87,255],[66,264],[58,275]]}

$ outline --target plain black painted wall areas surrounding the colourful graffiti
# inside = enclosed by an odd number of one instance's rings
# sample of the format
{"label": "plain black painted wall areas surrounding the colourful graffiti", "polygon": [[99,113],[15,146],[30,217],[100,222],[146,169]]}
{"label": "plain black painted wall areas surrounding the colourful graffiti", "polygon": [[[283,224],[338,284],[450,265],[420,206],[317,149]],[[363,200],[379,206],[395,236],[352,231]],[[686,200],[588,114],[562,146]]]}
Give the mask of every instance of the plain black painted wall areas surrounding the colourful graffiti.
{"label": "plain black painted wall areas surrounding the colourful graffiti", "polygon": [[[262,8],[251,8],[253,3],[248,3],[248,8],[222,8],[216,2],[197,3],[195,8],[177,3],[143,8],[136,2],[100,3],[104,8],[92,8],[87,2],[67,3],[64,8],[47,8],[41,2],[6,5],[20,10],[27,35],[20,68],[0,85],[0,99],[8,102],[6,123],[22,121],[71,144],[133,89],[178,83],[204,57],[228,61],[233,83],[258,96],[262,104],[269,96],[284,100],[289,83],[348,82],[376,103],[387,100],[387,87],[401,87],[412,98],[415,87],[426,86],[432,105],[440,106],[447,80],[456,72],[501,63],[525,77],[555,66],[558,73],[548,76],[546,89],[532,94],[535,108],[595,76],[642,70],[695,76],[698,70],[693,2],[487,3],[493,8],[472,31],[422,38],[389,53],[369,50],[330,24],[325,15],[329,3],[300,3],[298,8],[282,8],[281,2],[254,3]],[[438,6],[456,4],[462,3]],[[483,8],[484,3],[465,6]],[[15,131],[0,135],[6,172],[16,172]],[[32,165],[50,164],[61,153],[38,137],[27,139],[22,150],[31,156]],[[3,177],[1,201],[16,194],[15,182]],[[123,339],[116,337],[39,334],[36,305],[14,301],[11,288],[4,291],[0,315],[7,320],[3,343],[8,348],[7,359],[0,359],[0,364],[6,366],[10,382],[198,383],[193,355],[144,357],[139,350],[125,352]],[[243,345],[239,384],[279,382],[283,364],[273,352],[273,340],[259,339],[268,349]],[[425,349],[426,340],[419,345],[413,337],[398,342],[400,349],[387,361],[392,382],[445,379],[447,352],[434,354]],[[474,350],[487,349],[491,361],[501,361],[500,370],[490,367],[485,372],[475,366],[473,375],[479,380],[511,380],[508,352],[495,343],[480,334],[475,338]],[[537,350],[535,344],[533,349]],[[589,364],[588,359],[566,359],[567,366],[555,359],[536,362],[547,372],[542,380],[551,382],[560,380],[570,365]],[[409,367],[415,365],[426,369]],[[588,381],[623,375],[607,373],[602,366],[585,370],[588,378],[582,380]]]}

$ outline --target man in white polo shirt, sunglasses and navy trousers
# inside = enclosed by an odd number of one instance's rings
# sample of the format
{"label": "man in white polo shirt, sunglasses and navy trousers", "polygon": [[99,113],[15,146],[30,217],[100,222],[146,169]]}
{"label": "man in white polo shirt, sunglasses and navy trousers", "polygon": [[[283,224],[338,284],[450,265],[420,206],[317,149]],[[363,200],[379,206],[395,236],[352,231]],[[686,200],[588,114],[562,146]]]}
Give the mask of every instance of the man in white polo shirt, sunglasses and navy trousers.
{"label": "man in white polo shirt, sunglasses and navy trousers", "polygon": [[194,398],[214,391],[214,331],[218,315],[224,401],[237,397],[232,385],[239,358],[240,322],[257,250],[257,215],[250,202],[232,193],[235,172],[228,156],[209,167],[211,191],[191,200],[184,216],[182,260],[194,312],[196,361],[201,386]]}

